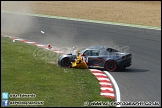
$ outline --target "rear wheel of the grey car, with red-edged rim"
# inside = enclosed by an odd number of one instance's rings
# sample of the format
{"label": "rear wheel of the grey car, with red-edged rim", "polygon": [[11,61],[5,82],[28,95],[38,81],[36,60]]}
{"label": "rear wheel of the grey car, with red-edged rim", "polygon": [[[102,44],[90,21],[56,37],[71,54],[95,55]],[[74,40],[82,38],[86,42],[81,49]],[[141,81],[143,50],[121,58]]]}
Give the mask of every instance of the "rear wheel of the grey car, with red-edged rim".
{"label": "rear wheel of the grey car, with red-edged rim", "polygon": [[115,70],[117,70],[117,64],[114,60],[108,60],[105,63],[105,69],[109,72],[113,72]]}

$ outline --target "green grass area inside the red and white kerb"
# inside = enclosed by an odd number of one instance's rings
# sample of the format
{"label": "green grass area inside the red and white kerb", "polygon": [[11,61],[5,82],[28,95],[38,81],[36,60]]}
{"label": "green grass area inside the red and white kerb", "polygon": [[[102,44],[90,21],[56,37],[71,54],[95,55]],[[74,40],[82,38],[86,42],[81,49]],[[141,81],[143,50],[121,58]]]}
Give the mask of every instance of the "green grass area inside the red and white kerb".
{"label": "green grass area inside the red and white kerb", "polygon": [[1,37],[1,92],[33,93],[35,98],[9,101],[44,101],[42,106],[47,107],[83,107],[86,101],[113,101],[100,96],[98,80],[88,69],[58,67],[57,57],[54,52]]}

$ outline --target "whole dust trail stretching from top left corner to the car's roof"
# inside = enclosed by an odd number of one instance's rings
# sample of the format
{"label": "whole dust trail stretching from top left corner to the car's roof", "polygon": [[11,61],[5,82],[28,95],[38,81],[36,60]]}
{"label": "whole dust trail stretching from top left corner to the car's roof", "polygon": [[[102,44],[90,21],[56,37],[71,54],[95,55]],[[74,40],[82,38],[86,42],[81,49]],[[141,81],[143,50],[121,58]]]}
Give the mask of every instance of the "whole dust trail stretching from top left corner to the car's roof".
{"label": "whole dust trail stretching from top left corner to the car's roof", "polygon": [[[15,12],[33,13],[29,1],[2,1],[1,3],[3,9],[7,7],[6,9],[10,10],[8,7],[11,7]],[[17,7],[17,5],[19,6]],[[77,49],[94,45],[117,46],[111,39],[107,42],[104,39],[93,38],[90,34],[86,38],[81,36],[82,34],[78,32],[75,24],[68,27],[59,22],[59,26],[56,27],[43,19],[38,20],[26,15],[6,13],[1,13],[1,22],[1,32],[4,34],[29,39],[41,44],[51,44],[54,48],[60,48],[66,52],[69,52],[73,46]],[[46,26],[42,26],[43,24]]]}

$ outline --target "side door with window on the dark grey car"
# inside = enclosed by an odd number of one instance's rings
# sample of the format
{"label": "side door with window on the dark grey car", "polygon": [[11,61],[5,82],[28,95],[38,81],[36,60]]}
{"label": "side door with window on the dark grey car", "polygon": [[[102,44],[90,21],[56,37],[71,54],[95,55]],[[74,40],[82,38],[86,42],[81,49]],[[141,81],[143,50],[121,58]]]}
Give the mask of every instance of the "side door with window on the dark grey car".
{"label": "side door with window on the dark grey car", "polygon": [[99,57],[99,50],[86,50],[84,56],[88,59],[88,66],[98,66],[102,63],[103,58]]}

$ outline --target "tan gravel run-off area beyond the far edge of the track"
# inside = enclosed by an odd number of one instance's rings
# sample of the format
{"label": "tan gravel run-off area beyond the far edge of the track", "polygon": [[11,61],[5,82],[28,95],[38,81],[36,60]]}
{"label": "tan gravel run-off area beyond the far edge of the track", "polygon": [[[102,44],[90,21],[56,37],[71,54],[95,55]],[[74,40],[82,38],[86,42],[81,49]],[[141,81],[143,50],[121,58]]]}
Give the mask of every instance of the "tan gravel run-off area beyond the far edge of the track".
{"label": "tan gravel run-off area beyond the far edge of the track", "polygon": [[161,1],[2,1],[1,10],[161,28]]}

